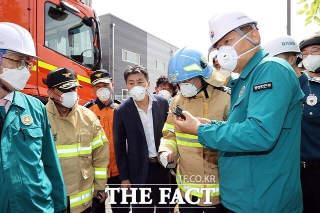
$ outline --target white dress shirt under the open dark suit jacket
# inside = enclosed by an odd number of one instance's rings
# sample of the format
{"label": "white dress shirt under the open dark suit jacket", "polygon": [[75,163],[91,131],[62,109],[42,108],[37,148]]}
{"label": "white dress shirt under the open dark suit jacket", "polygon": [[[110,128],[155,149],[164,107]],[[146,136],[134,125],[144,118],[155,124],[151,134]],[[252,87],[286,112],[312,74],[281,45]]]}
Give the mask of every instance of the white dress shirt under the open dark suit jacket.
{"label": "white dress shirt under the open dark suit jacket", "polygon": [[143,130],[144,130],[144,135],[145,135],[145,139],[146,139],[146,143],[148,146],[148,151],[149,151],[149,158],[153,158],[156,157],[156,149],[155,149],[155,142],[154,142],[154,133],[153,133],[153,118],[152,118],[152,98],[150,96],[149,93],[147,93],[148,97],[149,97],[149,105],[148,105],[148,109],[147,109],[147,113],[145,114],[145,112],[140,109],[138,107],[138,105],[135,103],[135,107],[138,110],[140,119],[141,119],[141,123],[143,126]]}

